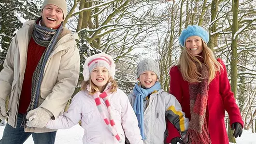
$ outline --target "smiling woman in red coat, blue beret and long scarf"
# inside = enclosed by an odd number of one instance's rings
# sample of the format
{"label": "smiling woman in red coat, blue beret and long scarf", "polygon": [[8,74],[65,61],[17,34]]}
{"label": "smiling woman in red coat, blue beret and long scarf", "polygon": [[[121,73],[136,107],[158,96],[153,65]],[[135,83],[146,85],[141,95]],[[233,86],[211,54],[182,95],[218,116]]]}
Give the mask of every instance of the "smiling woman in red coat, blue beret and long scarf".
{"label": "smiling woman in red coat, blue beret and long scarf", "polygon": [[[177,66],[170,71],[170,93],[178,99],[190,120],[185,140],[188,144],[229,144],[225,127],[225,110],[234,137],[241,136],[243,121],[230,90],[224,62],[215,59],[207,47],[209,34],[198,25],[189,25],[179,37],[185,47]],[[171,144],[179,133],[169,122]]]}

